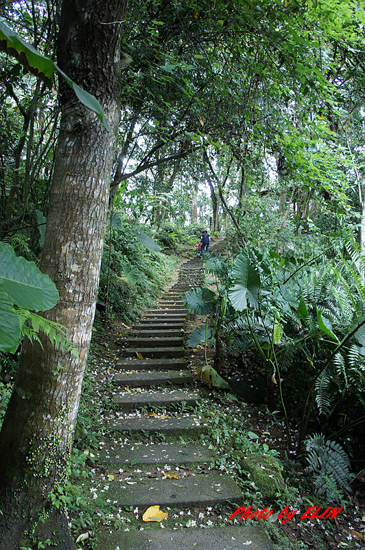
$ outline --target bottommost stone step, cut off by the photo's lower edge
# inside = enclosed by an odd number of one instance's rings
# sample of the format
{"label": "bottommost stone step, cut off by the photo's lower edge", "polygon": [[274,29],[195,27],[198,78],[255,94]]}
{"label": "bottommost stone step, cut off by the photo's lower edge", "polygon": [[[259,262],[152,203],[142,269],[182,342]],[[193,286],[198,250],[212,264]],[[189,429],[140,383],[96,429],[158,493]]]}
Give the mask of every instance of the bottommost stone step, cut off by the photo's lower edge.
{"label": "bottommost stone step, cut off by the photo's lower edge", "polygon": [[[144,509],[142,510],[142,512]],[[165,510],[163,510],[165,511]],[[189,516],[183,516],[186,524]],[[102,531],[95,550],[274,550],[261,525],[234,525],[209,529],[148,529],[144,531]]]}

